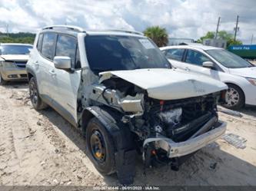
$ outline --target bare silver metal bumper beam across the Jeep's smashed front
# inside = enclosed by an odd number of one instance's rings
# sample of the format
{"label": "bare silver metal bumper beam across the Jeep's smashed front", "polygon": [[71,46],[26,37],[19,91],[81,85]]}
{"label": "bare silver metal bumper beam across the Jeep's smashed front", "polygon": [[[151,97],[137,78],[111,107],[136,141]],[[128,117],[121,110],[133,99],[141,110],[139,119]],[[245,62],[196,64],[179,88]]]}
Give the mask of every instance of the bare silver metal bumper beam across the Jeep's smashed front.
{"label": "bare silver metal bumper beam across the Jeep's smashed front", "polygon": [[161,149],[167,151],[169,158],[185,156],[190,153],[194,153],[195,151],[200,150],[202,147],[205,147],[209,143],[218,140],[218,138],[224,134],[227,127],[227,123],[223,121],[219,122],[220,125],[214,128],[213,130],[210,130],[206,133],[199,135],[198,137],[194,137],[184,142],[175,143],[171,139],[162,137],[163,139],[158,140],[156,144]]}

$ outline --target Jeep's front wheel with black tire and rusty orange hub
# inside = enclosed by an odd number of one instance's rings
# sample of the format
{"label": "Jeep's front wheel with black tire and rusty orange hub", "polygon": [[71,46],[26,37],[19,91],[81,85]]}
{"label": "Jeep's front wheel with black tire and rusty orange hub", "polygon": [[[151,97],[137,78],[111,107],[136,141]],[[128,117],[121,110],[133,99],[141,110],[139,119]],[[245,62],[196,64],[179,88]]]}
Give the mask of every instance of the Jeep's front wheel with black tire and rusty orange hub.
{"label": "Jeep's front wheel with black tire and rusty orange hub", "polygon": [[100,173],[115,173],[114,144],[108,131],[95,117],[86,127],[86,149],[88,157]]}

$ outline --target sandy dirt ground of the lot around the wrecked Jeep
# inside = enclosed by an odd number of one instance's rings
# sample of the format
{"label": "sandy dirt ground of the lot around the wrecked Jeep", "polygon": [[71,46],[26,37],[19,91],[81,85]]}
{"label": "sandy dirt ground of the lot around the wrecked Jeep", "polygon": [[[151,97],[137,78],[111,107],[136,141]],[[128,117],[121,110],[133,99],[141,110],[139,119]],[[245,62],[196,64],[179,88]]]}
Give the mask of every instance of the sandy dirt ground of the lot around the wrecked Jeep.
{"label": "sandy dirt ground of the lot around the wrecked Jeep", "polygon": [[[256,185],[256,107],[243,117],[220,113],[227,133],[244,137],[245,149],[218,140],[198,151],[178,172],[169,166],[142,171],[137,160],[135,185]],[[85,140],[51,108],[35,111],[27,84],[0,87],[0,185],[118,185],[101,176],[85,154]]]}

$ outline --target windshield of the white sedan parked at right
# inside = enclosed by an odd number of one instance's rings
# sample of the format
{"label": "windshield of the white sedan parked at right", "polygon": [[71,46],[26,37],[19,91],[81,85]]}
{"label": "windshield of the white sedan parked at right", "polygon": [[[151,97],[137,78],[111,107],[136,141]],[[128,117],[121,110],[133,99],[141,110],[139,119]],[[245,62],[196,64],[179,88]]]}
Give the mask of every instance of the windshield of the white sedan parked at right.
{"label": "windshield of the white sedan parked at right", "polygon": [[206,51],[215,60],[224,65],[227,68],[248,68],[253,67],[251,63],[245,61],[243,58],[231,53],[230,51],[225,51],[223,49],[213,49]]}

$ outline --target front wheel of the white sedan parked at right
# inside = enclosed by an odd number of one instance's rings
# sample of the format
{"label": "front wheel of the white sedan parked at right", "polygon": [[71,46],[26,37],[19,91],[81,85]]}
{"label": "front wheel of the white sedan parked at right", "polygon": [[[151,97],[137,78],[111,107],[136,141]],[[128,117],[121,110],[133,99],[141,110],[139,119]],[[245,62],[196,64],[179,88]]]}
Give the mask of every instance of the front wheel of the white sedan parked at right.
{"label": "front wheel of the white sedan parked at right", "polygon": [[234,84],[228,84],[228,91],[225,95],[224,107],[231,110],[238,110],[241,109],[241,107],[244,107],[244,103],[245,97],[241,88]]}

